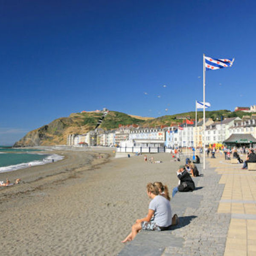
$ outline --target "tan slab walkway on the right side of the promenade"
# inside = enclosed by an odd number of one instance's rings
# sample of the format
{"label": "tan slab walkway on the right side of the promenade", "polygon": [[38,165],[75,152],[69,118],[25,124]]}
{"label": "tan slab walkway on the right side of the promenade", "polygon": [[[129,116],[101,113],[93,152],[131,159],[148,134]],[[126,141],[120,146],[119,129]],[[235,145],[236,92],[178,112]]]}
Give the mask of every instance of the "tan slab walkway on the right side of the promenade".
{"label": "tan slab walkway on the right side of the promenade", "polygon": [[231,214],[224,256],[255,256],[256,171],[241,170],[238,164],[221,164],[216,171],[221,174],[219,183],[225,185],[218,213]]}

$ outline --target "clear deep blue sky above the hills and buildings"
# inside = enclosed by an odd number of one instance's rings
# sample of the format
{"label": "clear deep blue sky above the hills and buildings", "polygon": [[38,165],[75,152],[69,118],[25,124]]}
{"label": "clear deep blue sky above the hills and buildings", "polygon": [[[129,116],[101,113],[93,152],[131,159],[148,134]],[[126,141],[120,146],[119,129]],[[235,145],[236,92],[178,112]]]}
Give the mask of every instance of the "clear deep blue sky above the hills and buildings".
{"label": "clear deep blue sky above the hills and buildings", "polygon": [[255,26],[253,0],[2,0],[0,145],[84,110],[195,111],[203,54],[235,58],[207,71],[209,110],[254,105]]}

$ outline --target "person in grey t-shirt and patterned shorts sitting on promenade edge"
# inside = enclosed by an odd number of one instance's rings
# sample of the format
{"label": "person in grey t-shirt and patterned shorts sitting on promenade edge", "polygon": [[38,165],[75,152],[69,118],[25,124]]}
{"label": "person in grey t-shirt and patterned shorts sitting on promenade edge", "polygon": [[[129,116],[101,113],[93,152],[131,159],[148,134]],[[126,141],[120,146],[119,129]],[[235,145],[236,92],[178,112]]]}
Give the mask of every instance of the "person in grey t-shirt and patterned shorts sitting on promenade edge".
{"label": "person in grey t-shirt and patterned shorts sitting on promenade edge", "polygon": [[[137,219],[131,227],[131,233],[122,241],[125,243],[131,241],[140,230],[157,230],[161,231],[172,224],[172,209],[170,202],[163,196],[152,183],[147,185],[147,194],[151,198],[148,207],[148,215],[145,218]],[[151,218],[154,215],[154,220]]]}

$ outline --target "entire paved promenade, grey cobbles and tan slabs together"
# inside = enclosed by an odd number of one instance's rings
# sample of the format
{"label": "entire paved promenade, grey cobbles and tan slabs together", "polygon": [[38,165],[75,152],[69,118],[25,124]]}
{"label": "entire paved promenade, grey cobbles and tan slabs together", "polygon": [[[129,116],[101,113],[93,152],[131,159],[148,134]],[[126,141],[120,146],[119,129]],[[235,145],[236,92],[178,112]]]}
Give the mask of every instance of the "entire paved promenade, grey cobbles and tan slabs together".
{"label": "entire paved promenade, grey cobbles and tan slabs together", "polygon": [[196,190],[171,200],[179,225],[140,232],[118,255],[256,255],[256,171],[241,170],[223,155],[207,158],[205,171],[197,166]]}

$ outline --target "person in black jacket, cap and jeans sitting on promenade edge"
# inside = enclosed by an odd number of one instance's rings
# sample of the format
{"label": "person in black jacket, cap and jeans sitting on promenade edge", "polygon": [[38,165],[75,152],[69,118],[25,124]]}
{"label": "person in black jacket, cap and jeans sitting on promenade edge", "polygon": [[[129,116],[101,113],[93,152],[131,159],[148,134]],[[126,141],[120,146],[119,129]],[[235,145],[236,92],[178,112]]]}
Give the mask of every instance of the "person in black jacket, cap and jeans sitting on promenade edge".
{"label": "person in black jacket, cap and jeans sitting on promenade edge", "polygon": [[179,186],[175,187],[172,190],[172,197],[179,192],[188,192],[195,190],[195,183],[190,177],[189,173],[186,171],[185,166],[180,166],[180,169],[177,171],[177,177],[179,180]]}

